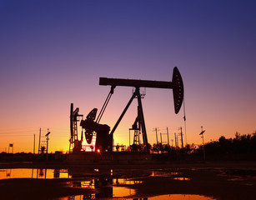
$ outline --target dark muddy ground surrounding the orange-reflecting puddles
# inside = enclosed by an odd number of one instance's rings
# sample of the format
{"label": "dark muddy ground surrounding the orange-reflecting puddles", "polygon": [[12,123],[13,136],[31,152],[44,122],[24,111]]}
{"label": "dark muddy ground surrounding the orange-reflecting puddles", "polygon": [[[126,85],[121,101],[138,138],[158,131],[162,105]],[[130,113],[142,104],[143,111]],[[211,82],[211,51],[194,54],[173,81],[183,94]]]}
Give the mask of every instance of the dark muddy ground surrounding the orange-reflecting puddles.
{"label": "dark muddy ground surrounding the orange-reflecting puddles", "polygon": [[[105,176],[140,181],[139,184],[118,186],[136,191],[136,194],[129,198],[150,199],[163,194],[198,194],[220,200],[256,197],[256,163],[253,162],[139,165],[0,163],[0,168],[67,168],[68,173],[73,177],[71,179],[3,179],[0,180],[0,199],[58,199],[79,194],[101,193],[104,185],[102,188],[73,188],[68,187],[68,183]],[[97,172],[94,169],[98,169]],[[153,175],[154,173],[158,175]]]}

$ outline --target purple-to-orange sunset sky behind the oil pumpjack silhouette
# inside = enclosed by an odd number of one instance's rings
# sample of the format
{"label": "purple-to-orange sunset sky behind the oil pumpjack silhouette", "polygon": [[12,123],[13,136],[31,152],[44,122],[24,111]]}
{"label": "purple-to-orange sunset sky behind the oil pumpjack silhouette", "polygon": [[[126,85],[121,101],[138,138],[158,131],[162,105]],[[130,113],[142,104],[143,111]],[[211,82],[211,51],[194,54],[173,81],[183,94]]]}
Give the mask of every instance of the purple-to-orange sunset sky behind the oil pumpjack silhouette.
{"label": "purple-to-orange sunset sky behind the oil pumpjack silhouette", "polygon": [[[187,142],[200,144],[256,130],[256,2],[207,0],[0,0],[0,152],[38,149],[49,128],[49,151],[67,151],[70,103],[85,117],[110,87],[99,77],[184,83]],[[110,128],[132,95],[116,87],[101,123]],[[147,88],[143,111],[148,142],[153,128],[170,138],[183,127],[173,92]],[[114,133],[128,145],[137,102]],[[163,138],[166,141],[166,138]]]}

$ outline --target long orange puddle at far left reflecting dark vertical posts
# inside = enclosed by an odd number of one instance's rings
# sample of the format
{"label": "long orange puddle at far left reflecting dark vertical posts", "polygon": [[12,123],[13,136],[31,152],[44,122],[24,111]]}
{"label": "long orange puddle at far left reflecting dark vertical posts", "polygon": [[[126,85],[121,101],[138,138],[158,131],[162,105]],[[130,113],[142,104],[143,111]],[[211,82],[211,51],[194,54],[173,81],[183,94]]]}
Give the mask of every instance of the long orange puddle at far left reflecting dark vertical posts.
{"label": "long orange puddle at far left reflecting dark vertical posts", "polygon": [[12,168],[2,169],[0,179],[7,178],[69,178],[67,169],[33,169],[33,168]]}

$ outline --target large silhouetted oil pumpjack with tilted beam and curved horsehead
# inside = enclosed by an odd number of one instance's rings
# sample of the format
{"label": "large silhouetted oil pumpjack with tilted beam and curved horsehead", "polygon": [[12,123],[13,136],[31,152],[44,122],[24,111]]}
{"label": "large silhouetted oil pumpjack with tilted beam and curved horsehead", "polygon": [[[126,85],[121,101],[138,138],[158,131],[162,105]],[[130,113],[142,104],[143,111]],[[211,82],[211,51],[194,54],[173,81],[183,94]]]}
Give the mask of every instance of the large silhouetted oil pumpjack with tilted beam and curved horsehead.
{"label": "large silhouetted oil pumpjack with tilted beam and curved horsehead", "polygon": [[[77,108],[75,111],[73,111],[73,103],[71,104],[70,145],[73,145],[73,153],[78,153],[83,150],[83,147],[81,145],[83,142],[83,130],[88,144],[93,143],[93,138],[95,138],[94,147],[92,148],[93,152],[113,152],[113,133],[115,132],[116,128],[118,128],[118,124],[121,122],[123,116],[127,112],[128,107],[131,105],[134,98],[138,99],[138,117],[136,118],[135,122],[138,124],[137,128],[141,130],[143,135],[144,152],[148,152],[148,137],[143,116],[143,105],[141,100],[142,97],[140,87],[173,89],[174,112],[176,114],[179,112],[183,104],[183,79],[180,75],[180,72],[178,71],[178,67],[173,68],[172,82],[99,77],[99,85],[110,86],[111,88],[110,92],[108,93],[108,97],[103,103],[103,107],[99,112],[97,118],[97,108],[93,108],[93,110],[89,112],[86,119],[83,120],[83,115],[78,114],[79,109]],[[135,90],[133,91],[132,97],[128,100],[128,104],[126,105],[126,107],[124,107],[123,112],[118,118],[118,121],[115,123],[114,127],[110,132],[110,127],[107,124],[100,124],[99,122],[100,119],[103,117],[103,113],[108,106],[108,102],[113,95],[115,87],[135,87]],[[82,119],[80,120],[80,126],[82,127],[82,135],[80,140],[78,139],[77,134],[78,117],[82,117]]]}

